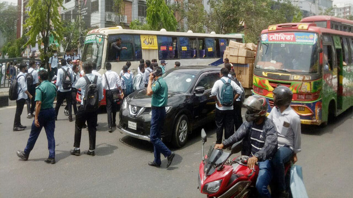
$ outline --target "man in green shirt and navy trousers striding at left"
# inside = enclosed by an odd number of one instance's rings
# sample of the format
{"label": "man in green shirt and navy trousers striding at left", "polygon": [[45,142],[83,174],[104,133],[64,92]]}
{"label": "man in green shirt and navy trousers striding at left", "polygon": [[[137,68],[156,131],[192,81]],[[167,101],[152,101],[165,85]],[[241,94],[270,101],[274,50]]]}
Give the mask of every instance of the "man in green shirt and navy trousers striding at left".
{"label": "man in green shirt and navy trousers striding at left", "polygon": [[24,161],[28,160],[29,153],[32,151],[39,133],[43,126],[48,139],[49,158],[44,162],[55,163],[55,110],[53,108],[56,96],[56,86],[48,81],[48,72],[41,70],[38,72],[40,85],[36,87],[36,114],[32,123],[31,133],[27,146],[24,151],[17,151],[17,156]]}

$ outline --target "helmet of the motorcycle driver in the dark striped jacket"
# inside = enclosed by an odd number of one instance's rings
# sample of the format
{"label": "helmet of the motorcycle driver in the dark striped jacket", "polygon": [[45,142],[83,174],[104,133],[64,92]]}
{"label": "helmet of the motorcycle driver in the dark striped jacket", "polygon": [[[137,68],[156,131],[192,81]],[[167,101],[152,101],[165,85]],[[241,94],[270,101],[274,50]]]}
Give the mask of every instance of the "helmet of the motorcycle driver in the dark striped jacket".
{"label": "helmet of the motorcycle driver in the dark striped jacket", "polygon": [[246,98],[243,105],[247,108],[245,112],[245,120],[252,122],[267,113],[267,102],[264,97],[259,95],[252,95]]}

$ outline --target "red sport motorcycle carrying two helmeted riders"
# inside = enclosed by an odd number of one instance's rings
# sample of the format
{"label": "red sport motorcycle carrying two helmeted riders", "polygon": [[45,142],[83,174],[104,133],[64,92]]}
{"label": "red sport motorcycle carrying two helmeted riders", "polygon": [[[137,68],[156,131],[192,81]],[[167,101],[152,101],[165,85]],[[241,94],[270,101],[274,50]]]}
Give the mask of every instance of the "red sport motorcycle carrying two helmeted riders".
{"label": "red sport motorcycle carrying two helmeted riders", "polygon": [[[256,180],[259,175],[259,166],[255,168],[247,167],[248,156],[238,156],[233,160],[228,160],[232,154],[242,150],[241,142],[235,143],[231,147],[231,152],[214,149],[212,146],[204,155],[204,143],[207,136],[202,129],[202,162],[199,166],[199,190],[206,194],[207,198],[249,198],[258,197],[256,190]],[[289,169],[286,165],[286,172]]]}

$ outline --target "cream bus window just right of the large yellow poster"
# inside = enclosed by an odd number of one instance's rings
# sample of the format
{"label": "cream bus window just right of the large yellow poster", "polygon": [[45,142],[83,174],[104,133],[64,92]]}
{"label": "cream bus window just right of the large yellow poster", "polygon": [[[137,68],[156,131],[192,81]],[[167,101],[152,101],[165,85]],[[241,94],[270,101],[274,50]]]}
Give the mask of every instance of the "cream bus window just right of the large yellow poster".
{"label": "cream bus window just right of the large yellow poster", "polygon": [[158,59],[169,60],[178,58],[176,48],[176,37],[157,36],[158,40]]}

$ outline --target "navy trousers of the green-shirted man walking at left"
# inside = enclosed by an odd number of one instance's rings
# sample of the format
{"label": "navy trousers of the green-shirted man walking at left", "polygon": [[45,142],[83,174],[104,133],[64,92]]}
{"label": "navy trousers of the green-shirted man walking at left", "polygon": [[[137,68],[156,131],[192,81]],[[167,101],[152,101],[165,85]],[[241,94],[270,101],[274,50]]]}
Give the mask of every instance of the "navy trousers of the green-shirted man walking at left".
{"label": "navy trousers of the green-shirted man walking at left", "polygon": [[45,129],[45,133],[47,134],[48,139],[48,150],[49,150],[49,158],[55,158],[55,138],[54,138],[54,130],[55,130],[55,110],[54,108],[48,108],[45,110],[40,110],[38,115],[39,127],[32,123],[31,133],[29,134],[27,146],[24,149],[24,153],[29,155],[32,151],[36,141],[38,139],[39,133],[42,130],[43,126]]}

